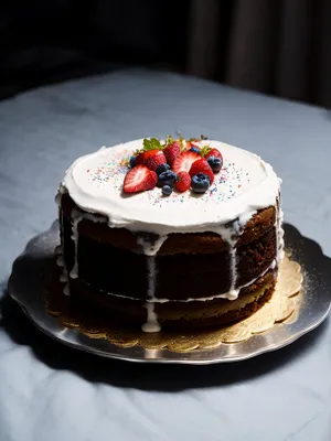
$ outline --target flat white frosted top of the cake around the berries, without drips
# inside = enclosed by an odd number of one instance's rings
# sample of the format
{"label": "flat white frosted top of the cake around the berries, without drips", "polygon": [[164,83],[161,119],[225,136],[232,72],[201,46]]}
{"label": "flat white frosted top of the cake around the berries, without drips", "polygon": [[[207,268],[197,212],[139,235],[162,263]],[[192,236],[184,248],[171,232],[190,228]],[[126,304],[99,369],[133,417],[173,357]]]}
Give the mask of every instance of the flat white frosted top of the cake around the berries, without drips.
{"label": "flat white frosted top of the cake around the berries, without drips", "polygon": [[157,234],[217,232],[231,220],[245,222],[255,211],[276,203],[280,180],[271,165],[254,153],[214,140],[200,141],[223,155],[223,166],[205,193],[173,192],[167,197],[157,186],[125,193],[127,159],[142,142],[102,148],[78,158],[67,169],[60,193],[68,192],[83,211],[107,216],[110,227]]}

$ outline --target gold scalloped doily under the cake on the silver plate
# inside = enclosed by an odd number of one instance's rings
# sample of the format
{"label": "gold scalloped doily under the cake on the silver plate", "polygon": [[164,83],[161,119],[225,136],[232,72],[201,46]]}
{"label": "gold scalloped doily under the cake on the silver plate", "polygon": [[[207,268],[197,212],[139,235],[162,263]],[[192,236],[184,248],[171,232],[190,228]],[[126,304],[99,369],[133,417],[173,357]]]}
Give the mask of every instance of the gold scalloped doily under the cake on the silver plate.
{"label": "gold scalloped doily under the cake on the silver plate", "polygon": [[295,321],[302,299],[300,294],[302,280],[300,265],[286,256],[279,267],[278,282],[269,302],[239,323],[196,333],[146,334],[141,331],[111,326],[73,308],[71,298],[63,295],[60,287],[47,292],[46,309],[50,314],[56,315],[64,326],[78,329],[90,338],[106,338],[119,347],[138,345],[147,349],[168,348],[183,353],[197,348],[214,348],[222,343],[242,342],[254,334],[270,330],[274,325]]}

